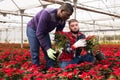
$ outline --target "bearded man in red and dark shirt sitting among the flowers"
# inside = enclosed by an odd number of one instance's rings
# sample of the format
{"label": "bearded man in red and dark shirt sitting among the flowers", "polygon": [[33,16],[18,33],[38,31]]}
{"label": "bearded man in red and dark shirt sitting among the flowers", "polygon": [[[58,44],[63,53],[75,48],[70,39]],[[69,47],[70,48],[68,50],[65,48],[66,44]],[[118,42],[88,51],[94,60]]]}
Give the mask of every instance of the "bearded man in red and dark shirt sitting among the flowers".
{"label": "bearded man in red and dark shirt sitting among the flowers", "polygon": [[78,21],[76,19],[71,19],[68,24],[70,32],[66,32],[65,34],[70,41],[66,44],[59,57],[60,67],[65,68],[69,64],[76,64],[84,61],[94,62],[95,58],[91,52],[86,55],[81,55],[82,47],[86,46],[86,41],[85,35],[79,32]]}

